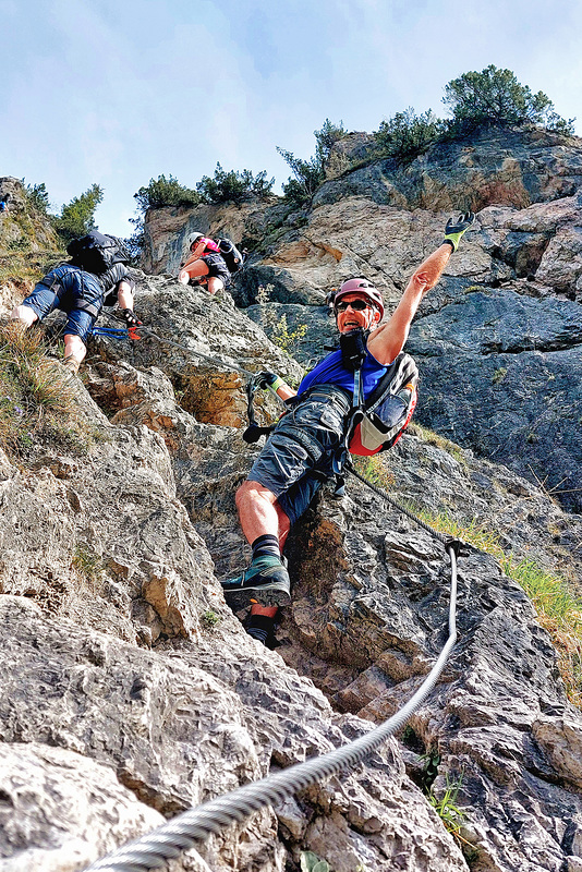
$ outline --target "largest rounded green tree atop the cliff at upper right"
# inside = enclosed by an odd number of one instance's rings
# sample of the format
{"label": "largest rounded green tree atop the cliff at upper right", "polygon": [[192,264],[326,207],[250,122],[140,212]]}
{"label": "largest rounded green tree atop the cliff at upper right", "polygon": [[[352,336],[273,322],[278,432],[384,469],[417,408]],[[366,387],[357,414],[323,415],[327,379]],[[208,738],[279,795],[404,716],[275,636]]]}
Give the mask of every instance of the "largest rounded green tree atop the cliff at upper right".
{"label": "largest rounded green tree atop the cliff at upper right", "polygon": [[575,119],[560,118],[554,104],[542,90],[532,94],[521,85],[511,70],[498,70],[490,64],[481,73],[463,73],[445,86],[442,102],[452,119],[452,133],[464,133],[487,126],[535,126],[573,133]]}

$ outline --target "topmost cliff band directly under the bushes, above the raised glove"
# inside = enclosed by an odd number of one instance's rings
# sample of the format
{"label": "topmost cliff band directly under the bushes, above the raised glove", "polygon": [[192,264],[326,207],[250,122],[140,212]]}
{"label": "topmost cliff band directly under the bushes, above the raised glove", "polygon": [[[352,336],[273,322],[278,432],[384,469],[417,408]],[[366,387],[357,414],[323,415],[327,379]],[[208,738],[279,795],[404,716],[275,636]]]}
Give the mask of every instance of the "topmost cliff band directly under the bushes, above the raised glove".
{"label": "topmost cliff band directly under the bushes, above the raised glove", "polygon": [[[361,161],[369,155],[369,145],[366,148],[356,137],[343,147],[342,143],[336,145],[332,162],[341,162],[341,156]],[[542,130],[487,130],[470,140],[437,143],[405,166],[390,158],[348,169],[322,185],[314,205],[350,194],[409,210],[481,211],[492,204],[521,209],[571,196],[581,181],[578,137]]]}

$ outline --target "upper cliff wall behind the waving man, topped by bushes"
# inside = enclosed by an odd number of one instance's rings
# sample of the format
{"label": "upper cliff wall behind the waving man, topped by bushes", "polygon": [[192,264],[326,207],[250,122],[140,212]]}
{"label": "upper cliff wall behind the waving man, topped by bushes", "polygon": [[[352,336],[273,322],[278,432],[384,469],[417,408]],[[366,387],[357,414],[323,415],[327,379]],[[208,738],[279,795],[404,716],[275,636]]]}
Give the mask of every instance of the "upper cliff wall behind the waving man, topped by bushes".
{"label": "upper cliff wall behind the waving man, topped by bushes", "polygon": [[[347,160],[369,157],[371,147],[355,134],[337,145]],[[331,287],[365,275],[395,305],[450,213],[477,210],[411,334],[421,420],[544,482],[580,512],[581,167],[577,137],[544,131],[436,145],[405,168],[372,161],[324,183],[302,221],[266,208],[234,299],[270,334],[282,315],[291,332],[308,326],[294,353],[311,365],[332,337],[324,307]],[[248,232],[256,239],[254,216]],[[268,302],[257,307],[260,289]]]}

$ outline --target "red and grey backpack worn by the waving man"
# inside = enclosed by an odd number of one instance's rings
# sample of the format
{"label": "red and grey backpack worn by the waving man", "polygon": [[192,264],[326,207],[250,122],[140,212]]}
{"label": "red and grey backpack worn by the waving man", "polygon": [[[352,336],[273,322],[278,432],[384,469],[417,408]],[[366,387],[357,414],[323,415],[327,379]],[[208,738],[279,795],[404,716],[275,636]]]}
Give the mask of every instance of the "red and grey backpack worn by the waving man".
{"label": "red and grey backpack worn by the waving man", "polygon": [[354,373],[354,407],[348,431],[352,455],[369,457],[391,448],[408,427],[416,407],[419,370],[410,354],[400,353],[366,400],[360,371]]}

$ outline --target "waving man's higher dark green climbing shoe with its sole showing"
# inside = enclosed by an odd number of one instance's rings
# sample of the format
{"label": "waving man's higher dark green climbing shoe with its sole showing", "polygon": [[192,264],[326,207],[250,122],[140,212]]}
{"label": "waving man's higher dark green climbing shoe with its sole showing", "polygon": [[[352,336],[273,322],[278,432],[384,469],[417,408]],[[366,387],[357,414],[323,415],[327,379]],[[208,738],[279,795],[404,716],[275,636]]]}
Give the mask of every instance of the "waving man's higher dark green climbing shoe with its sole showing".
{"label": "waving man's higher dark green climbing shoe with its sole showing", "polygon": [[256,557],[244,572],[221,583],[225,598],[235,610],[252,603],[287,606],[291,602],[289,572],[275,555]]}

